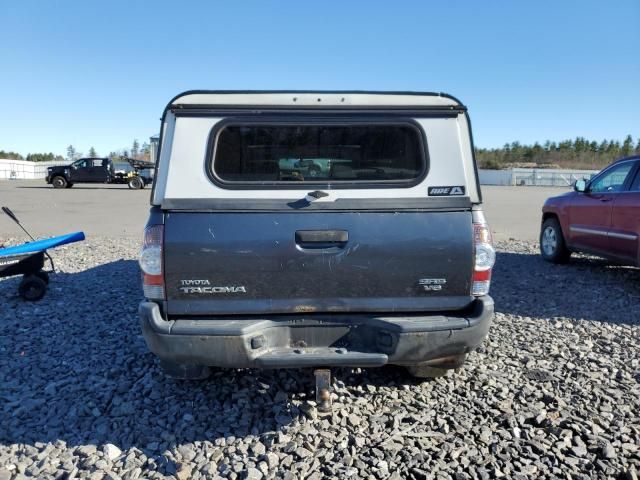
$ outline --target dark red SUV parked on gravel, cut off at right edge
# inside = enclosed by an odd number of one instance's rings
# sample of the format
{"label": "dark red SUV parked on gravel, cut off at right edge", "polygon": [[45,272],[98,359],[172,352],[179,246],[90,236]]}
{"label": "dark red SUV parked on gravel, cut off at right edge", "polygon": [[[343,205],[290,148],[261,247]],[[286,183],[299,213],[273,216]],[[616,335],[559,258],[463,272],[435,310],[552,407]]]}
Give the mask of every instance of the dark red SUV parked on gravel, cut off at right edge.
{"label": "dark red SUV parked on gravel, cut off at right edge", "polygon": [[540,253],[553,263],[587,252],[640,266],[640,156],[612,163],[542,207]]}

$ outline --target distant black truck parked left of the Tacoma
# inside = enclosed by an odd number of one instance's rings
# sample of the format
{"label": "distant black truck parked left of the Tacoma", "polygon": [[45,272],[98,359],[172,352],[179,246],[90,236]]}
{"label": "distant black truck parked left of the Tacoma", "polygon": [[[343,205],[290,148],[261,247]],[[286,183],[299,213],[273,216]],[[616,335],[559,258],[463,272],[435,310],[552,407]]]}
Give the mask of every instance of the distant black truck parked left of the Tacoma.
{"label": "distant black truck parked left of the Tacoma", "polygon": [[46,180],[53,188],[71,188],[76,183],[113,183],[136,190],[153,181],[152,162],[122,157],[122,164],[116,166],[109,158],[81,158],[70,165],[47,168]]}

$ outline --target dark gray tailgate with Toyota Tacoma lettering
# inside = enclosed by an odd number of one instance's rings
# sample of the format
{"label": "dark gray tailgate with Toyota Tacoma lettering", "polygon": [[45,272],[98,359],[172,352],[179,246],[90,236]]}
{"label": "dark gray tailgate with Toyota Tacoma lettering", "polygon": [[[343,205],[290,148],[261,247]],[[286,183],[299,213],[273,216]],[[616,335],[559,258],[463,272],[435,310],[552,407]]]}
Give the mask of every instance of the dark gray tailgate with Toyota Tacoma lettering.
{"label": "dark gray tailgate with Toyota Tacoma lettering", "polygon": [[470,210],[168,212],[169,315],[455,310],[469,305]]}

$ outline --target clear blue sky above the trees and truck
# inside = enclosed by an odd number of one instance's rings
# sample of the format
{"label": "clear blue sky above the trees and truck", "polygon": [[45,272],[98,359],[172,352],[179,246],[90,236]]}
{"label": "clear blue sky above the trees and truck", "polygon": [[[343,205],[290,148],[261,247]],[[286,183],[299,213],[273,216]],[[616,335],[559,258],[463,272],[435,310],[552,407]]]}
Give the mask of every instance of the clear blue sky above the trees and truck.
{"label": "clear blue sky above the trees and truck", "polygon": [[22,0],[0,24],[0,150],[22,154],[129,147],[207,88],[445,91],[481,147],[640,136],[639,0]]}

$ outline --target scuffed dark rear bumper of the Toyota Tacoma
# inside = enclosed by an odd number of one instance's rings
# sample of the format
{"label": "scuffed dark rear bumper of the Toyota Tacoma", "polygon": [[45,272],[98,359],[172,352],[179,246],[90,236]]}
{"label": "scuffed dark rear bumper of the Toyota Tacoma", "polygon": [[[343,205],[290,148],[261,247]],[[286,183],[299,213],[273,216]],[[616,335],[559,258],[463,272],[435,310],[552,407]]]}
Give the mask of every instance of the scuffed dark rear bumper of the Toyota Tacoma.
{"label": "scuffed dark rear bumper of the Toyota Tacoma", "polygon": [[139,314],[149,349],[169,362],[231,368],[379,367],[437,363],[470,352],[487,336],[493,299],[481,297],[468,310],[448,315],[167,321],[153,302],[142,302]]}

